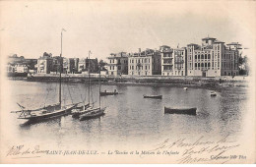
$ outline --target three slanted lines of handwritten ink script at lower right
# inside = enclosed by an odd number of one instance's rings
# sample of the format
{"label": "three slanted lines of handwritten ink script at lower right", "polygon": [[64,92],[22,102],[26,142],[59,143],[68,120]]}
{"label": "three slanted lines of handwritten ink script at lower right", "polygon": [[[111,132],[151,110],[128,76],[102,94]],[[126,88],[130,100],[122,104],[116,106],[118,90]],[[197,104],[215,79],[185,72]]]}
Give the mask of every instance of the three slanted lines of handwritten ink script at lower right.
{"label": "three slanted lines of handwritten ink script at lower right", "polygon": [[232,149],[240,144],[228,140],[228,136],[219,140],[206,139],[201,136],[195,141],[188,139],[164,139],[155,148],[150,151],[175,152],[180,151],[177,163],[226,163],[231,159],[246,159],[245,155],[236,155],[232,153]]}

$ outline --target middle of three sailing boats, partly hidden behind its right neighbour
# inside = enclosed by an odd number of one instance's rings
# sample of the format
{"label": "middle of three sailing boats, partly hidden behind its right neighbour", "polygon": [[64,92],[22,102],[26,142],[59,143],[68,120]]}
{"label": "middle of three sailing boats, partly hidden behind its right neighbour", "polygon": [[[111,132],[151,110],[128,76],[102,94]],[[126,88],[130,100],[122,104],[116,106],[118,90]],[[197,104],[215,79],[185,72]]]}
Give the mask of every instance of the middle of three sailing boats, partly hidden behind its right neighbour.
{"label": "middle of three sailing boats, partly hidden behind its right neighbour", "polygon": [[75,109],[72,110],[72,117],[73,118],[79,118],[80,115],[85,114],[86,112],[88,112],[88,108],[92,108],[91,104],[90,104],[90,90],[91,90],[91,80],[90,80],[90,54],[91,51],[89,51],[89,60],[88,60],[88,87],[89,87],[89,91],[88,91],[88,103],[86,104],[86,102],[84,101],[84,103],[82,103],[82,106],[78,106]]}

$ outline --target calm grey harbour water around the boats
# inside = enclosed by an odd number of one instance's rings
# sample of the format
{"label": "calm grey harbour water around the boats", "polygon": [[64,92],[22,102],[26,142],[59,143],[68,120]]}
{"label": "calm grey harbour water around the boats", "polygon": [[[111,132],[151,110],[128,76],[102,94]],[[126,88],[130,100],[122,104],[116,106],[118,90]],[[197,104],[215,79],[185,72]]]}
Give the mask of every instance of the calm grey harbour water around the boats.
{"label": "calm grey harbour water around the boats", "polygon": [[[58,101],[58,83],[10,81],[12,104],[39,107]],[[105,148],[110,146],[143,147],[166,138],[179,136],[238,137],[246,114],[245,88],[227,87],[211,97],[211,89],[160,86],[102,85],[121,94],[101,97],[106,114],[94,120],[79,121],[71,116],[27,125],[16,114],[8,114],[14,138],[60,147]],[[93,99],[98,105],[98,85],[93,85]],[[66,104],[87,97],[85,83],[63,83]],[[143,94],[162,94],[162,99],[143,98]],[[70,96],[72,98],[70,98]],[[163,107],[197,107],[197,116],[163,114]],[[9,112],[9,111],[8,111]]]}

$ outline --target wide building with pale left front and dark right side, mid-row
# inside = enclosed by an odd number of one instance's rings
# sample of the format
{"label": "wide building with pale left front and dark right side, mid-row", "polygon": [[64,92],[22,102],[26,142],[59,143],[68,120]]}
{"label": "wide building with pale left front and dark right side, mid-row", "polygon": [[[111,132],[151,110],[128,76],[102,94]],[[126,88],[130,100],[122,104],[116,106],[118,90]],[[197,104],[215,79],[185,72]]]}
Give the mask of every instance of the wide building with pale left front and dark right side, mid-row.
{"label": "wide building with pale left front and dark right side, mid-row", "polygon": [[160,75],[161,62],[160,51],[146,49],[133,53],[128,57],[128,71],[130,76],[152,76]]}

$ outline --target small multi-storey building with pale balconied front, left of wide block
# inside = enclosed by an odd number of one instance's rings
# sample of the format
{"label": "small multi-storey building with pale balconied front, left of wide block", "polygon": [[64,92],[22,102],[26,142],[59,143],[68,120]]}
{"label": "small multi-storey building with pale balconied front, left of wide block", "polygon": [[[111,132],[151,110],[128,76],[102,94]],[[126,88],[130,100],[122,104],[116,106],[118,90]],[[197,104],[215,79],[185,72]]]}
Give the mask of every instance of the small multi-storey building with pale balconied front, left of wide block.
{"label": "small multi-storey building with pale balconied front, left of wide block", "polygon": [[107,71],[109,76],[120,76],[128,74],[128,57],[126,52],[111,53],[107,57]]}

